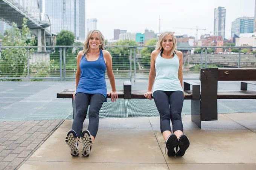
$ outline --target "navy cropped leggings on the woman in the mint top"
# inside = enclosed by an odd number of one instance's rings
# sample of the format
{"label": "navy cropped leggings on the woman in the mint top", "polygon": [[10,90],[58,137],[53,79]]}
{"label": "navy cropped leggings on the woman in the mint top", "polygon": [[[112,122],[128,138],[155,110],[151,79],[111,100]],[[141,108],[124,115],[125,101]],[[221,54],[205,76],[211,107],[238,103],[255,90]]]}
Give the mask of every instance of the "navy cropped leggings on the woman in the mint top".
{"label": "navy cropped leggings on the woman in the mint top", "polygon": [[[175,132],[180,130],[183,132],[183,124],[181,122],[181,110],[183,106],[184,96],[182,91],[161,91],[154,92],[154,101],[160,114],[160,130]],[[172,130],[170,126],[172,121]]]}

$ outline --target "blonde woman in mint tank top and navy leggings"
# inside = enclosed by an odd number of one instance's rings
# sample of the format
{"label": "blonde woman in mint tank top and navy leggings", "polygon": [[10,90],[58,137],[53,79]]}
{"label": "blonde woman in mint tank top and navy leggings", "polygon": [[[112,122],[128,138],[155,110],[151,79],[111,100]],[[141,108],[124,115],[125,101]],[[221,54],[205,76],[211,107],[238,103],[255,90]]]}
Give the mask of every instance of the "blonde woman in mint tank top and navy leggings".
{"label": "blonde woman in mint tank top and navy leggings", "polygon": [[176,49],[177,39],[172,32],[159,36],[155,50],[151,53],[148,92],[144,95],[150,100],[154,96],[168,156],[183,156],[189,147],[189,139],[183,134],[181,122],[184,100],[183,55]]}

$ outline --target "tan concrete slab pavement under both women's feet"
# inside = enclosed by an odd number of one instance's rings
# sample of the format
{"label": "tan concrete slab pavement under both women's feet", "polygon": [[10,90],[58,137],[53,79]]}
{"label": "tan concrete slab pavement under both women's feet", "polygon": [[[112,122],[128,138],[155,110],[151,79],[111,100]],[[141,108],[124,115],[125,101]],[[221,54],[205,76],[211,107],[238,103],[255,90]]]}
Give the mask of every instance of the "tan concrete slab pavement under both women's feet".
{"label": "tan concrete slab pavement under both women's feet", "polygon": [[64,141],[72,120],[65,120],[19,169],[256,169],[256,113],[218,114],[202,129],[182,118],[190,139],[183,157],[165,154],[159,117],[100,119],[91,155],[72,157]]}

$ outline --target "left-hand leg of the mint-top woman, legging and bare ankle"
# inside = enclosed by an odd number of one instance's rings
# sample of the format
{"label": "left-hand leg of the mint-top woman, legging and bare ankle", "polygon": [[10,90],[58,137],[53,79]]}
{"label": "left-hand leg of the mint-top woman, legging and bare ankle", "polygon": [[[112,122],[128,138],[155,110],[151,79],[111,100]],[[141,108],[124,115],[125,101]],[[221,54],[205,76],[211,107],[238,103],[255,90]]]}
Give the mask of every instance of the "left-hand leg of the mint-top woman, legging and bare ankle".
{"label": "left-hand leg of the mint-top woman, legging and bare ankle", "polygon": [[161,91],[157,90],[154,92],[154,101],[157,107],[157,110],[160,114],[160,130],[163,135],[163,138],[166,139],[171,135],[171,126],[170,126],[170,108],[169,108],[169,98],[168,95]]}

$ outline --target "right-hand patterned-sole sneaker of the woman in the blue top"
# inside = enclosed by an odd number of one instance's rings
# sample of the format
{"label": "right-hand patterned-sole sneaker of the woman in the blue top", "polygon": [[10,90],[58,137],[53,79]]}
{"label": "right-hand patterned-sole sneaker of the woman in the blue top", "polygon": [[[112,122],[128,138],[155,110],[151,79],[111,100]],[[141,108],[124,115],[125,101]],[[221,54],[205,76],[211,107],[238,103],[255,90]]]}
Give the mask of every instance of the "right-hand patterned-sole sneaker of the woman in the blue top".
{"label": "right-hand patterned-sole sneaker of the woman in the blue top", "polygon": [[82,132],[81,143],[83,144],[82,151],[81,151],[82,155],[89,156],[91,153],[91,145],[93,144],[93,142],[91,140],[91,134],[88,130],[85,130]]}

